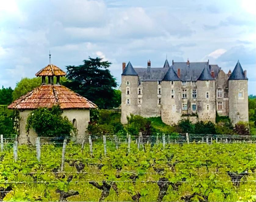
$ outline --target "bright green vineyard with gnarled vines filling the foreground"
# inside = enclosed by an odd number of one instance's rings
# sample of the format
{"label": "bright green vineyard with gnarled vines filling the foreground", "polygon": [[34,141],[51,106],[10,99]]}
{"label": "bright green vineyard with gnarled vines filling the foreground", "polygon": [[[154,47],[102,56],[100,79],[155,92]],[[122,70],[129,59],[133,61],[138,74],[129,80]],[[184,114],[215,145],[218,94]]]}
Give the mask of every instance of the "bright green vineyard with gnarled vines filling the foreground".
{"label": "bright green vineyard with gnarled vines filling the foreground", "polygon": [[[255,201],[255,144],[5,144],[4,201]],[[63,158],[64,157],[64,158]],[[62,165],[63,164],[63,165]],[[61,166],[62,165],[62,166]]]}

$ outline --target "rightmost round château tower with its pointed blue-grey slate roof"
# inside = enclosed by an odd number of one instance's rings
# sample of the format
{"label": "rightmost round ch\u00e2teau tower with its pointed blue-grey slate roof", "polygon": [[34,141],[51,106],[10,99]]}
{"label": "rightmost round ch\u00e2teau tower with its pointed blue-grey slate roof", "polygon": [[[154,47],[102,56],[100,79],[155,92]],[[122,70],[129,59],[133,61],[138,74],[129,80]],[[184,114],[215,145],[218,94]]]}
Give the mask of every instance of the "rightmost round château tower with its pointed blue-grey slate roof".
{"label": "rightmost round ch\u00e2teau tower with its pointed blue-grey slate roof", "polygon": [[229,77],[229,118],[233,125],[248,122],[248,79],[239,60]]}

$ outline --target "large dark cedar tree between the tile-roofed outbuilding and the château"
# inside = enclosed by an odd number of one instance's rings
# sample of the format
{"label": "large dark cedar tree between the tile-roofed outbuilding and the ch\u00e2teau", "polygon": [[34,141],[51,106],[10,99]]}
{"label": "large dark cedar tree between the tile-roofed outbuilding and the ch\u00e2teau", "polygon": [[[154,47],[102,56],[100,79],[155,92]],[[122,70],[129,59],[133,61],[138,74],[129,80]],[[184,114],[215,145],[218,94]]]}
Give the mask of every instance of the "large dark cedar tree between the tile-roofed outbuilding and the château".
{"label": "large dark cedar tree between the tile-roofed outbuilding and the ch\u00e2teau", "polygon": [[110,74],[110,62],[101,58],[84,60],[79,66],[67,66],[67,87],[93,101],[99,108],[113,108],[117,105],[114,98],[116,79]]}

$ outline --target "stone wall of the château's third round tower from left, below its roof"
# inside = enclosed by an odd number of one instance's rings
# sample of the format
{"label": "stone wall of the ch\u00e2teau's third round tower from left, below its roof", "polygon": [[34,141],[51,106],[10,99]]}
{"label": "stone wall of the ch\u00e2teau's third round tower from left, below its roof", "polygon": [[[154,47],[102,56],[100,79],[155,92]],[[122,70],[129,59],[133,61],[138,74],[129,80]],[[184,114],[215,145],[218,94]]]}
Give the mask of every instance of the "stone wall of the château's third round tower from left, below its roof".
{"label": "stone wall of the ch\u00e2teau's third round tower from left, below its roof", "polygon": [[[198,121],[215,123],[215,80],[198,80],[197,89]],[[206,96],[207,92],[208,98]]]}

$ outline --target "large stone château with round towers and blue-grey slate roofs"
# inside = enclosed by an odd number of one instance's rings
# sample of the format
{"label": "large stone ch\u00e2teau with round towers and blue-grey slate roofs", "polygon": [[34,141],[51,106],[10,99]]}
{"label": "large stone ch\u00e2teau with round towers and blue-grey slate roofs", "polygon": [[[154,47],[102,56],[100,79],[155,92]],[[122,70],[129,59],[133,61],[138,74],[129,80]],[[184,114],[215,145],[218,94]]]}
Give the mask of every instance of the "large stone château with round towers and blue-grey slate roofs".
{"label": "large stone ch\u00e2teau with round towers and blue-grey slate roofs", "polygon": [[239,61],[226,74],[218,65],[207,62],[174,62],[170,66],[133,68],[123,63],[121,84],[121,122],[130,114],[161,116],[168,125],[189,118],[192,122],[215,122],[218,115],[232,123],[248,122],[246,70]]}

